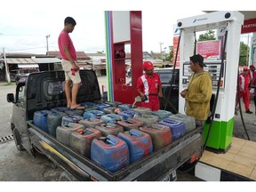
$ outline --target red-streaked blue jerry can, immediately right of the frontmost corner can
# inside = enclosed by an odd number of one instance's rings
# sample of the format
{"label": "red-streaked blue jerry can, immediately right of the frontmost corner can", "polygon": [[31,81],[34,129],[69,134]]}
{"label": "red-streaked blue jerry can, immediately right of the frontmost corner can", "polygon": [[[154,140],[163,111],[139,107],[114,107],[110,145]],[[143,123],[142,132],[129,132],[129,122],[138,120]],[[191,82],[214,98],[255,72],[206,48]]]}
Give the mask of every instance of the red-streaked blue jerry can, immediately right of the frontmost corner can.
{"label": "red-streaked blue jerry can, immediately right of the frontmost corner can", "polygon": [[151,137],[146,132],[132,129],[128,132],[119,132],[117,137],[127,143],[131,164],[153,151]]}

